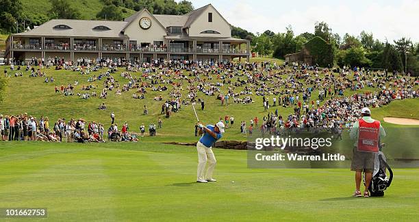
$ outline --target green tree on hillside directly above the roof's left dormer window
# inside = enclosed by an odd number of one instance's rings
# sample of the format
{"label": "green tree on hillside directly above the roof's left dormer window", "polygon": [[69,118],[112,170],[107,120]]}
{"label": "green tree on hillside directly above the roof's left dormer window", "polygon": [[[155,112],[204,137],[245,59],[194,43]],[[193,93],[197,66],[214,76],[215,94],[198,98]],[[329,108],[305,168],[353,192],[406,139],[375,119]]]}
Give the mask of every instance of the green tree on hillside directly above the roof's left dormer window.
{"label": "green tree on hillside directly above the roof's left dormer window", "polygon": [[80,18],[80,12],[73,8],[69,0],[49,0],[51,3],[51,18],[77,19]]}

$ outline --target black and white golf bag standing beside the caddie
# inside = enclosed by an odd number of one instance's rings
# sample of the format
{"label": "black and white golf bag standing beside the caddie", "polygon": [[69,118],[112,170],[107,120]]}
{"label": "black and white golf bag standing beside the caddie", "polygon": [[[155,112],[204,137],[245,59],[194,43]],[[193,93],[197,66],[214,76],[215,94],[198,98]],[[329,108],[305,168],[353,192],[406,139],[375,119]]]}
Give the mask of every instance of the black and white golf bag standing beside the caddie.
{"label": "black and white golf bag standing beside the caddie", "polygon": [[[390,174],[390,177],[387,176],[386,169]],[[393,171],[385,160],[384,153],[381,151],[375,156],[374,160],[374,172],[372,173],[372,180],[368,190],[370,191],[371,197],[382,197],[384,195],[384,190],[387,189],[393,180]],[[364,184],[365,184],[365,175],[364,175]]]}

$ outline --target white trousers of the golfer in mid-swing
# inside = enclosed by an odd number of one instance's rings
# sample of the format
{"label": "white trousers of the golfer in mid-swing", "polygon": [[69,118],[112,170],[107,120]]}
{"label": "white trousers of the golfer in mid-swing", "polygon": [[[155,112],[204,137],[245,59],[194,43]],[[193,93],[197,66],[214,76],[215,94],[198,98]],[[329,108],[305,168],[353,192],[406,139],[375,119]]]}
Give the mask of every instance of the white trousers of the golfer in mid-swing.
{"label": "white trousers of the golfer in mid-swing", "polygon": [[[201,142],[196,143],[196,150],[198,151],[198,173],[196,180],[205,180],[212,178],[212,171],[214,171],[217,160],[215,159],[212,147],[205,147]],[[205,165],[208,161],[207,174],[204,175]]]}

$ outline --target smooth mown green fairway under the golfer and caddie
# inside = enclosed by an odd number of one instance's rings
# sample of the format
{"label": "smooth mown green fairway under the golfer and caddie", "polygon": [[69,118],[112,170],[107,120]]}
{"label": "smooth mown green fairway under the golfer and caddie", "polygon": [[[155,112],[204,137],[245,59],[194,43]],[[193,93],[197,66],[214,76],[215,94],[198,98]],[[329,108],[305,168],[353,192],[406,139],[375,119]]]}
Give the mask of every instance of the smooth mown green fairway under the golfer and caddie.
{"label": "smooth mown green fairway under the golfer and caddie", "polygon": [[409,221],[419,216],[418,169],[394,169],[383,198],[352,198],[348,169],[247,169],[245,151],[214,152],[218,182],[196,184],[194,147],[0,143],[0,208],[45,207],[51,221]]}

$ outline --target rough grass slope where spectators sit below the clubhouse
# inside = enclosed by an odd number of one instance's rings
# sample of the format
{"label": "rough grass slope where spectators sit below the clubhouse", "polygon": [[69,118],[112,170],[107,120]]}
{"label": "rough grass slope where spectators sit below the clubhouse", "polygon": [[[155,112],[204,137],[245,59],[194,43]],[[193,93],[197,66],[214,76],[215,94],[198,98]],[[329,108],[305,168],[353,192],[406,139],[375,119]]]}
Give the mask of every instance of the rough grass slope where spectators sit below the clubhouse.
{"label": "rough grass slope where spectators sit below the clubhouse", "polygon": [[[8,69],[10,71],[10,69]],[[79,82],[78,86],[75,86],[75,93],[92,93],[95,91],[100,95],[100,92],[103,88],[103,79],[97,82],[88,82],[88,78],[93,75],[99,75],[100,73],[105,72],[103,69],[101,71],[92,72],[90,75],[81,75],[79,72],[73,71],[55,71],[54,69],[45,69],[43,70],[47,73],[48,77],[53,77],[55,82],[53,83],[44,83],[45,77],[29,77],[29,71],[23,71],[23,77],[10,77],[8,81],[8,87],[5,90],[5,99],[3,102],[0,102],[1,112],[3,114],[22,114],[27,112],[28,114],[34,116],[49,116],[51,121],[56,121],[59,118],[71,119],[71,118],[84,118],[87,121],[99,121],[105,124],[105,127],[110,125],[110,113],[112,111],[116,114],[116,123],[122,125],[127,121],[131,131],[138,132],[138,127],[145,123],[146,126],[149,123],[157,124],[158,118],[162,118],[163,128],[157,129],[157,136],[159,141],[191,141],[196,140],[194,138],[194,124],[196,119],[192,106],[182,106],[181,110],[177,113],[174,113],[170,116],[169,119],[165,118],[164,114],[160,114],[161,107],[166,99],[170,99],[169,92],[173,89],[173,86],[166,84],[168,90],[159,92],[153,91],[151,88],[147,88],[147,94],[145,94],[146,99],[133,99],[133,93],[136,93],[136,90],[131,89],[127,93],[122,93],[122,95],[116,95],[116,90],[109,91],[107,99],[99,99],[99,97],[93,97],[90,99],[81,99],[77,95],[73,96],[64,96],[60,93],[55,93],[55,86],[68,84],[74,84],[75,80]],[[120,84],[122,88],[123,84],[128,83],[128,79],[120,76],[120,72],[112,74],[116,81]],[[3,73],[3,71],[1,71]],[[13,75],[14,73],[12,73]],[[150,82],[149,80],[144,79],[142,73],[131,72],[133,77],[142,78],[143,81]],[[335,74],[336,75],[336,74]],[[243,79],[244,77],[240,77]],[[282,78],[285,78],[283,75]],[[168,77],[165,77],[168,79]],[[237,77],[231,79],[232,82],[235,82]],[[181,90],[182,99],[186,99],[188,94],[187,90],[187,80],[173,79],[174,82],[183,82],[183,89]],[[212,82],[222,82],[221,80],[216,79],[216,74],[212,74]],[[97,87],[94,90],[86,91],[81,90],[83,86],[92,86]],[[160,84],[164,86],[164,84]],[[156,85],[157,87],[157,85]],[[281,86],[281,89],[284,86]],[[222,92],[227,93],[227,85],[221,87]],[[236,92],[240,90],[240,87],[236,88]],[[351,91],[346,90],[345,96],[348,96],[353,93],[366,92],[376,90],[374,88],[364,88],[363,90]],[[239,91],[240,92],[240,91]],[[255,92],[254,92],[255,93]],[[155,96],[162,95],[163,101],[155,101]],[[242,99],[244,96],[240,96]],[[318,97],[318,90],[314,91],[312,99]],[[264,111],[262,106],[262,97],[253,95],[252,99],[255,101],[251,104],[239,104],[233,103],[230,99],[229,106],[221,106],[220,100],[216,99],[216,96],[207,96],[203,93],[198,93],[198,98],[204,99],[205,101],[205,110],[201,110],[200,104],[196,104],[196,112],[199,116],[199,119],[203,123],[214,124],[221,117],[224,119],[224,116],[234,116],[235,125],[231,129],[227,129],[225,133],[225,139],[232,140],[245,140],[246,137],[240,134],[240,121],[246,121],[249,125],[249,121],[257,116],[259,119],[262,119],[263,116],[268,114],[267,111]],[[272,96],[270,98],[270,103],[272,103]],[[327,98],[330,98],[329,96]],[[99,104],[105,103],[107,105],[107,110],[99,110]],[[143,115],[143,107],[147,106],[149,110],[148,115]],[[383,108],[374,109],[372,112],[372,117],[382,120],[383,117],[389,116],[402,116],[402,117],[412,117],[419,119],[419,113],[417,112],[419,107],[419,99],[411,99],[408,101],[394,101],[394,106],[385,106]],[[269,112],[275,112],[278,109],[279,114],[282,116],[287,116],[288,114],[293,113],[292,107],[283,108],[280,106],[271,106],[268,110]],[[410,116],[411,114],[411,116]],[[51,127],[53,123],[51,122]],[[391,126],[392,124],[384,123]],[[146,139],[147,140],[147,139]],[[151,140],[155,140],[151,138]]]}

